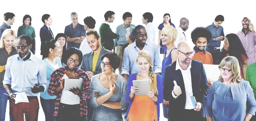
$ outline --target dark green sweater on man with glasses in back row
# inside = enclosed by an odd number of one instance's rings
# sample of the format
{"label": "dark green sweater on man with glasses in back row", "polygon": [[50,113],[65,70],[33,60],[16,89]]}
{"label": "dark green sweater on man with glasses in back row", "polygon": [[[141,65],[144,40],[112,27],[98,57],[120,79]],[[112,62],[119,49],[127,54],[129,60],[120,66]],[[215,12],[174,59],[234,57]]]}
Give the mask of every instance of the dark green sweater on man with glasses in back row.
{"label": "dark green sweater on man with glasses in back row", "polygon": [[117,34],[115,34],[110,26],[106,23],[102,23],[102,25],[100,25],[99,27],[99,35],[101,38],[101,45],[105,48],[108,49],[110,51],[112,51],[113,47],[114,47],[114,40],[116,39],[118,36]]}

